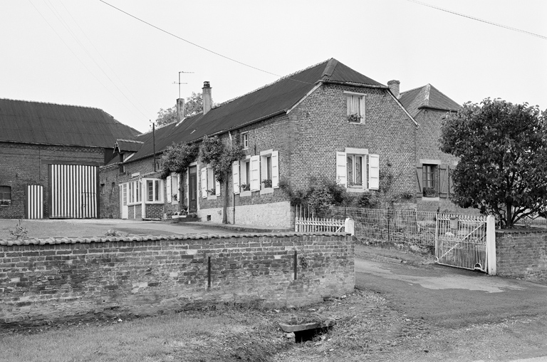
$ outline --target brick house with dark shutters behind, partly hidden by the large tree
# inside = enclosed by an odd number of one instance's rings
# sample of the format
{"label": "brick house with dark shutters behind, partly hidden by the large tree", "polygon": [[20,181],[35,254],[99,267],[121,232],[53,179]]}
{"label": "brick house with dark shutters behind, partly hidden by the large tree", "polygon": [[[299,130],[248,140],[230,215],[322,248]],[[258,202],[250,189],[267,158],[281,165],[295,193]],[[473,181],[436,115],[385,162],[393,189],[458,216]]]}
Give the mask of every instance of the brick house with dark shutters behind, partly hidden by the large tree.
{"label": "brick house with dark shutters behind, partly hidden by the large tree", "polygon": [[[399,93],[399,81],[387,83],[392,93]],[[469,213],[449,200],[452,192],[450,170],[458,158],[439,149],[442,119],[457,112],[458,103],[440,90],[427,84],[406,90],[398,96],[408,113],[417,121],[416,138],[416,205],[418,211]]]}

